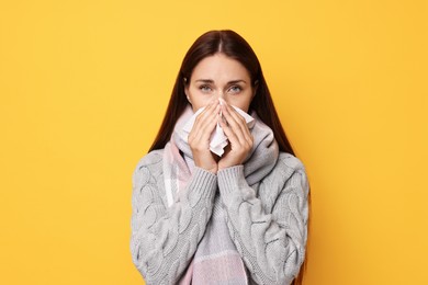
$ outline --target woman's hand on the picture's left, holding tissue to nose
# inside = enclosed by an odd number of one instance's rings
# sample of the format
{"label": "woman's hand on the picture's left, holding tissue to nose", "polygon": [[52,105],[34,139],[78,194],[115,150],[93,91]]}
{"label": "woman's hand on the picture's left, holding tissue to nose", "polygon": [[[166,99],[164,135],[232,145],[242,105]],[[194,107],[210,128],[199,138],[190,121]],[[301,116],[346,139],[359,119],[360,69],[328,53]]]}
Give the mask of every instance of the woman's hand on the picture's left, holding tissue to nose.
{"label": "woman's hand on the picture's left, holding tissue to nose", "polygon": [[215,155],[210,150],[210,137],[218,118],[219,103],[218,100],[215,100],[198,115],[188,139],[194,164],[213,173],[217,173],[218,166]]}

